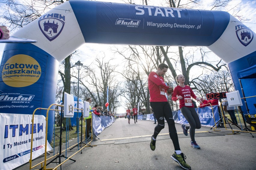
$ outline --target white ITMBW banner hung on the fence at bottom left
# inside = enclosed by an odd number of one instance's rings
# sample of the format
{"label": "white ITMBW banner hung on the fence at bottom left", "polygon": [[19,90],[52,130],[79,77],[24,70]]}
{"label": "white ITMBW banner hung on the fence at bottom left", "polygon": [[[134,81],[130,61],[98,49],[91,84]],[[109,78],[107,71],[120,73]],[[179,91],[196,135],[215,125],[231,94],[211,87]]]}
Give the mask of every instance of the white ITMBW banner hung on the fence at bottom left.
{"label": "white ITMBW banner hung on the fence at bottom left", "polygon": [[[34,116],[32,128],[31,114],[0,113],[0,170],[14,169],[29,162],[31,140],[32,159],[44,153],[45,149],[45,117]],[[33,139],[31,133],[33,129]],[[52,147],[47,142],[47,151]]]}

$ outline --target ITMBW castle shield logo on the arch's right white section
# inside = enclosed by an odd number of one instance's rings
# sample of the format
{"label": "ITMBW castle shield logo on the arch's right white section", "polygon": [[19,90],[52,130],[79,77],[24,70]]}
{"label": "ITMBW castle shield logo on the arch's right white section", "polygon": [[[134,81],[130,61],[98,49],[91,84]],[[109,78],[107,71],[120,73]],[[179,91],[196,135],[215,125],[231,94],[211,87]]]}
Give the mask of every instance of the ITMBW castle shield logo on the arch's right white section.
{"label": "ITMBW castle shield logo on the arch's right white section", "polygon": [[236,25],[236,36],[239,42],[245,47],[249,45],[253,39],[253,31],[243,24]]}

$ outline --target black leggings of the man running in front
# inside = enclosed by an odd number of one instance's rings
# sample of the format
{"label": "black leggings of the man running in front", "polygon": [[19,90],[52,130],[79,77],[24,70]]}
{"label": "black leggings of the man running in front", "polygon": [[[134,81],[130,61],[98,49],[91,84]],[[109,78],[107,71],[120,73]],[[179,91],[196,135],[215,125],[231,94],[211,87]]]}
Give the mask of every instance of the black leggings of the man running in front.
{"label": "black leggings of the man running in front", "polygon": [[175,128],[175,122],[172,117],[172,109],[168,102],[150,102],[150,106],[154,111],[155,118],[157,119],[157,125],[153,134],[154,138],[157,138],[157,135],[164,128],[165,122],[164,118],[167,121],[169,127],[169,135],[172,139],[172,143],[175,151],[181,150],[179,146],[178,134]]}

